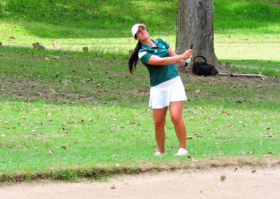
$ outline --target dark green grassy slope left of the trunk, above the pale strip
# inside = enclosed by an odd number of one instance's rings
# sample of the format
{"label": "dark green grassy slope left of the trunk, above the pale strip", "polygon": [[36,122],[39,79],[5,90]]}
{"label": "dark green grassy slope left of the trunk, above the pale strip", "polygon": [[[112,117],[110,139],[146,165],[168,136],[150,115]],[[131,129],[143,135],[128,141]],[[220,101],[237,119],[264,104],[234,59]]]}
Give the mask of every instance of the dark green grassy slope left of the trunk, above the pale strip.
{"label": "dark green grassy slope left of the trunk, above the pale strip", "polygon": [[[142,5],[143,4],[143,5]],[[148,1],[155,6],[157,2]],[[175,5],[175,7],[174,7]],[[155,30],[176,26],[176,2],[158,4],[158,9],[144,7],[137,1],[6,1],[0,3],[0,18],[41,38],[108,38],[131,36],[136,22],[153,25]],[[150,15],[143,15],[144,11]],[[160,12],[164,11],[164,12]],[[156,18],[151,18],[156,15]],[[157,26],[155,26],[157,22]],[[98,32],[98,33],[97,33]]]}

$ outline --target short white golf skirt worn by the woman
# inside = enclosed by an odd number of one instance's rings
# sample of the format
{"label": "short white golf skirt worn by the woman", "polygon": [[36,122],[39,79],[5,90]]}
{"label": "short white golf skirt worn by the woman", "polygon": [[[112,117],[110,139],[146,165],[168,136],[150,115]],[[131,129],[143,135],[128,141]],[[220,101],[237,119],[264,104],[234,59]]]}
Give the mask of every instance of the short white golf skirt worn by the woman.
{"label": "short white golf skirt worn by the woman", "polygon": [[180,76],[155,85],[150,89],[149,107],[162,109],[169,107],[170,102],[187,100],[185,88]]}

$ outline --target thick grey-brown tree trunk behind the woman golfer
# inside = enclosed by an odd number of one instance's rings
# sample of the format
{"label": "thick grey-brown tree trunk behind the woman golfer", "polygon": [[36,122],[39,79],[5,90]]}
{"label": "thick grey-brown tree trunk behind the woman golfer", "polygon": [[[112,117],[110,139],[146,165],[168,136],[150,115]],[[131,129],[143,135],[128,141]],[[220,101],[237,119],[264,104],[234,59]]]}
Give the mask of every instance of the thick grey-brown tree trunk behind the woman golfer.
{"label": "thick grey-brown tree trunk behind the woman golfer", "polygon": [[[181,54],[190,49],[194,34],[193,57],[188,64],[192,69],[193,60],[202,55],[207,62],[214,65],[218,71],[222,68],[214,52],[214,6],[213,0],[179,0],[177,13],[176,53]],[[202,61],[197,58],[196,61]],[[180,64],[184,69],[185,64]],[[184,69],[186,70],[186,69]]]}

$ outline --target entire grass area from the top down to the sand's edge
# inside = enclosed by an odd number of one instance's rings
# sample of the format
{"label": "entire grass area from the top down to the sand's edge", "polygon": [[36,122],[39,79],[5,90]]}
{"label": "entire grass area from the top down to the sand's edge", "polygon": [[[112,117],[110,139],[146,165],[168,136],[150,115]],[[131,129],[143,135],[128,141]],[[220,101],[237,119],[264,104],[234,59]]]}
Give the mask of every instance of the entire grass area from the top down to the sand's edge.
{"label": "entire grass area from the top down to the sand's edge", "polygon": [[182,74],[190,100],[183,119],[196,138],[187,141],[190,157],[174,157],[170,119],[167,155],[153,156],[148,71],[139,64],[130,76],[127,69],[136,44],[130,27],[145,22],[153,38],[174,48],[176,2],[0,0],[3,45],[39,41],[52,49],[0,48],[0,181],[101,178],[207,158],[224,158],[217,164],[279,158],[280,10],[276,1],[241,0],[214,0],[216,55],[231,70],[269,78]]}

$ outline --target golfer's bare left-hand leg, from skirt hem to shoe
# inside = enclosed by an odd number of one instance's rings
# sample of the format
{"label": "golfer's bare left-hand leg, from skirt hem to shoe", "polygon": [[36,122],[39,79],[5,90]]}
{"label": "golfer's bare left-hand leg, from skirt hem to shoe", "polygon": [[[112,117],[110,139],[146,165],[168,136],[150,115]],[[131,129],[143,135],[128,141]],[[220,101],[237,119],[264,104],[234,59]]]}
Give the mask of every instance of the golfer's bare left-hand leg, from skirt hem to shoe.
{"label": "golfer's bare left-hand leg, from skirt hem to shoe", "polygon": [[[158,145],[158,151],[165,153],[165,116],[167,108],[153,109],[153,121],[155,123],[155,139]],[[186,138],[185,138],[186,139]]]}

